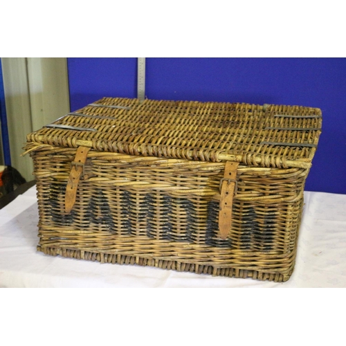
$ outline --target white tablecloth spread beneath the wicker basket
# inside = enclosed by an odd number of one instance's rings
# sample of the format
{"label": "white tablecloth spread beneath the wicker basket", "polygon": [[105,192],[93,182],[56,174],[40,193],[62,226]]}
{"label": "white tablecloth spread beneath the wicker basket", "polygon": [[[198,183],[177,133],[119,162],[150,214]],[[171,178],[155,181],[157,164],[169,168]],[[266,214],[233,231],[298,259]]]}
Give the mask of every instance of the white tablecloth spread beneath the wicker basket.
{"label": "white tablecloth spread beneath the wicker basket", "polygon": [[304,198],[295,271],[276,283],[44,255],[33,186],[0,210],[0,287],[346,287],[346,195]]}

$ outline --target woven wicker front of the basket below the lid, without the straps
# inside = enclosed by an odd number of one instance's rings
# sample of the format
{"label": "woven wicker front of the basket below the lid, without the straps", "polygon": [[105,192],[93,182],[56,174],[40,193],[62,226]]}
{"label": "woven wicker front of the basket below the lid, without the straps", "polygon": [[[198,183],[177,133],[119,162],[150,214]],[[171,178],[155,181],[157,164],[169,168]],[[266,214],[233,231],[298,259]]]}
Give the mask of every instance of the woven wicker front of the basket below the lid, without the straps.
{"label": "woven wicker front of the basket below the lid, without the straps", "polygon": [[291,273],[307,170],[239,167],[233,226],[222,240],[217,215],[224,163],[91,152],[89,178],[80,182],[73,212],[65,215],[74,155],[75,149],[62,148],[33,154],[41,251],[194,263],[210,266],[212,273],[275,268],[280,280]]}

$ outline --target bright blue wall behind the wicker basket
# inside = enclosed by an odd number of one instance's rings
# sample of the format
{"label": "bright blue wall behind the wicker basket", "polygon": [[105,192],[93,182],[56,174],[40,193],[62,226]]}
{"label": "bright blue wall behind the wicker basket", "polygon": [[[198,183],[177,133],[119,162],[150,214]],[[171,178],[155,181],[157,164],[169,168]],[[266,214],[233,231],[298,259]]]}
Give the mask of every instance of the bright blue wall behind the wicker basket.
{"label": "bright blue wall behind the wicker basket", "polygon": [[[71,111],[136,97],[136,58],[69,58]],[[147,58],[150,99],[298,104],[322,109],[305,190],[346,194],[346,59]]]}

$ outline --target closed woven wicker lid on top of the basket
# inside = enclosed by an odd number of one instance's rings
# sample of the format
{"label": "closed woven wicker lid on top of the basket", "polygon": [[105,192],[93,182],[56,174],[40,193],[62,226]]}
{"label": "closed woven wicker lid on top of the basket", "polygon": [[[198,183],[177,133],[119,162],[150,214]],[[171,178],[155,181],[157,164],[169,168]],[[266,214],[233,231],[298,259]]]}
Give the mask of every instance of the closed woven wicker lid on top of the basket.
{"label": "closed woven wicker lid on top of the basket", "polygon": [[29,134],[30,145],[237,161],[262,167],[310,167],[320,109],[226,102],[102,98]]}

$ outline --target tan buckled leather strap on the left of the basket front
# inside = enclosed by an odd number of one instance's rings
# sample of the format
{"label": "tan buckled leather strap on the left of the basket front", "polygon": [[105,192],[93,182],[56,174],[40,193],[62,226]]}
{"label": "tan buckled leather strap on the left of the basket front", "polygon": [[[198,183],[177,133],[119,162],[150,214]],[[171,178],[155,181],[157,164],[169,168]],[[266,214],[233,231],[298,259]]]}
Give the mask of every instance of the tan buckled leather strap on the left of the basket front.
{"label": "tan buckled leather strap on the left of the basket front", "polygon": [[78,183],[81,176],[82,179],[84,177],[84,163],[89,150],[90,148],[88,147],[78,147],[77,152],[75,153],[75,160],[71,162],[71,171],[69,180],[67,181],[65,194],[65,212],[68,214],[75,205]]}

